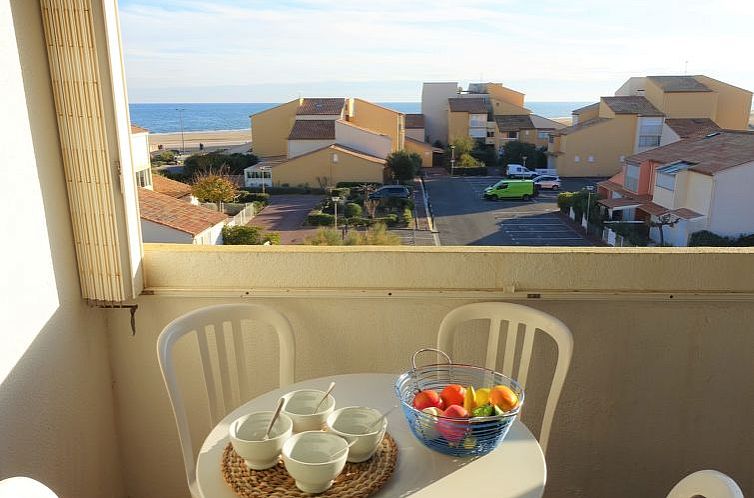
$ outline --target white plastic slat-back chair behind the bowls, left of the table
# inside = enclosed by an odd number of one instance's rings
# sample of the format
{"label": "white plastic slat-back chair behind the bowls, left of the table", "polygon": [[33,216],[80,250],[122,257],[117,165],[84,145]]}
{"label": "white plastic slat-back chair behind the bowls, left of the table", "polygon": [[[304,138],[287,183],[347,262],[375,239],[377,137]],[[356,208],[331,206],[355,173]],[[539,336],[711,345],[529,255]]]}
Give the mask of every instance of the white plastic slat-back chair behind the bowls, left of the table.
{"label": "white plastic slat-back chair behind the bowls, left of the table", "polygon": [[[216,425],[232,408],[239,406],[248,399],[251,393],[249,375],[246,368],[246,352],[243,343],[242,321],[253,321],[271,326],[277,332],[280,349],[280,387],[293,383],[295,343],[293,331],[288,320],[277,311],[260,304],[220,304],[200,308],[180,316],[170,322],[157,340],[157,356],[160,369],[165,379],[165,386],[173,406],[175,422],[178,426],[178,436],[181,441],[183,462],[186,467],[186,478],[192,496],[199,496],[196,487],[196,461],[191,434],[189,430],[188,414],[183,396],[178,388],[172,351],[175,343],[185,335],[195,332],[199,346],[199,354],[204,376],[204,384],[209,404],[209,415],[212,425]],[[207,342],[209,330],[215,332],[217,360],[210,356]],[[228,345],[226,331],[230,330],[232,337],[235,369],[235,387],[231,383]],[[223,331],[223,333],[218,333]],[[213,373],[213,364],[219,372],[219,383]],[[219,389],[217,388],[219,384]]]}

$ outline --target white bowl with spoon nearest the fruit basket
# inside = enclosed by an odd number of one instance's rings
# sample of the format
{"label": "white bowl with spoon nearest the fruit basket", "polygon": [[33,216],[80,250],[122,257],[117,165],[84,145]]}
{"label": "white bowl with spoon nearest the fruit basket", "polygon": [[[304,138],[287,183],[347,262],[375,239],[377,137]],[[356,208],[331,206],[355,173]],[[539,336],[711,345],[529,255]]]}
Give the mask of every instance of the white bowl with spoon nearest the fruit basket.
{"label": "white bowl with spoon nearest the fruit basket", "polygon": [[349,462],[364,462],[372,458],[377,446],[385,436],[387,418],[381,424],[377,420],[382,416],[374,408],[366,406],[348,406],[335,410],[327,417],[327,430],[354,442],[348,450]]}

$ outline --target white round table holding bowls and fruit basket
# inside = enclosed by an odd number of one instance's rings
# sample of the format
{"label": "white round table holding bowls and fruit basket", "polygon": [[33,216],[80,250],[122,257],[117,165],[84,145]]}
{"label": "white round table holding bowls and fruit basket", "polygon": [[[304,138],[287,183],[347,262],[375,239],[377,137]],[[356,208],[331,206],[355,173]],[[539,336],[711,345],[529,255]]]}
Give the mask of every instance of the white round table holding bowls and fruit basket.
{"label": "white round table holding bowls and fruit basket", "polygon": [[[235,498],[220,474],[220,461],[228,444],[230,423],[245,413],[274,410],[283,394],[295,389],[327,389],[330,381],[336,408],[362,405],[387,411],[398,403],[395,374],[346,374],[298,382],[270,391],[229,413],[210,432],[199,452],[196,479],[204,498]],[[547,477],[545,458],[537,440],[516,420],[493,452],[480,458],[455,458],[432,451],[420,443],[400,408],[388,415],[388,432],[398,445],[398,465],[393,477],[375,497],[494,496],[539,498]]]}

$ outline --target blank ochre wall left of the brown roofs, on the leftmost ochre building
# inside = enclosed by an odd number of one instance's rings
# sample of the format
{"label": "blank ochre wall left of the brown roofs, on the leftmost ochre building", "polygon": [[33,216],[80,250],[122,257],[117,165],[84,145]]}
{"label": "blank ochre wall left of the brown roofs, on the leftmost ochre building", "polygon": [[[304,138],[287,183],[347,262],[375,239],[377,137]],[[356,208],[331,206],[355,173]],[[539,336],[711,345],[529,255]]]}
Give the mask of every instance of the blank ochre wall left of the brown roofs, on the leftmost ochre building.
{"label": "blank ochre wall left of the brown roofs, on the leftmost ochre building", "polygon": [[296,120],[299,100],[295,99],[251,117],[254,154],[260,157],[284,156],[288,151],[288,135]]}

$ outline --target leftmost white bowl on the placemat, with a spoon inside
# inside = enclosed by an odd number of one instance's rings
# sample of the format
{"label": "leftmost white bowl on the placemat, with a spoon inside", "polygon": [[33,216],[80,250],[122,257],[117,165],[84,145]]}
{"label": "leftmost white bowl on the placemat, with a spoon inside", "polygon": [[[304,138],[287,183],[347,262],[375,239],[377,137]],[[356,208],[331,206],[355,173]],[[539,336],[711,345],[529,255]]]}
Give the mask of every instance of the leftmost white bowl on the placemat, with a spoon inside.
{"label": "leftmost white bowl on the placemat, with a spoon inside", "polygon": [[274,467],[278,463],[283,443],[293,434],[293,421],[281,413],[272,426],[269,439],[264,440],[264,434],[273,415],[273,412],[254,412],[230,424],[229,434],[233,449],[246,461],[246,465],[254,470]]}

